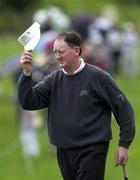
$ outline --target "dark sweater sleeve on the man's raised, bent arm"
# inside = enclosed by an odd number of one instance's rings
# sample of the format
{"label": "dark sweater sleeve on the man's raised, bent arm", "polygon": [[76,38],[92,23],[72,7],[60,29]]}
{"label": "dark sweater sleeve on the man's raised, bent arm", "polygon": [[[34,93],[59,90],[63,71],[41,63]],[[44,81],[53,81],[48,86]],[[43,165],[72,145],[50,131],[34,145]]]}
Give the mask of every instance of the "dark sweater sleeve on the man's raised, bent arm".
{"label": "dark sweater sleeve on the man's raised, bent arm", "polygon": [[49,105],[50,84],[45,78],[33,86],[32,76],[22,74],[18,80],[18,100],[25,110],[38,110]]}

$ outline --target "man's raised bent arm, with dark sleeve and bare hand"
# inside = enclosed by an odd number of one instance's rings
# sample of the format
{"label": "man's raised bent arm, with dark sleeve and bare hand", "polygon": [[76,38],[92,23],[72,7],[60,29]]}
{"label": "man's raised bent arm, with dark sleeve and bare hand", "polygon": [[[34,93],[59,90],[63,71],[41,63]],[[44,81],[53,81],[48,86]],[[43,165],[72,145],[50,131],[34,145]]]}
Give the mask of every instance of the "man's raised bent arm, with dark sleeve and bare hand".
{"label": "man's raised bent arm, with dark sleeve and bare hand", "polygon": [[18,81],[18,99],[20,105],[26,110],[37,110],[49,104],[49,83],[45,80],[33,86],[32,82],[32,54],[24,52],[20,59],[23,74]]}

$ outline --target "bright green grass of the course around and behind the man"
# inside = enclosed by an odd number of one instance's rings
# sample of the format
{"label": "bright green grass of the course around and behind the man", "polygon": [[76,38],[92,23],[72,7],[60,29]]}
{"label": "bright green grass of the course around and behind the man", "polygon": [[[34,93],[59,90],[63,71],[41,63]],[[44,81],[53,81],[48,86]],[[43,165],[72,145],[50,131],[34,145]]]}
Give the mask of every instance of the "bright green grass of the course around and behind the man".
{"label": "bright green grass of the course around and behind the man", "polygon": [[[14,54],[22,52],[21,46],[16,41],[17,37],[0,37],[0,64]],[[117,83],[131,100],[135,113],[137,133],[130,148],[127,171],[130,180],[138,180],[140,177],[140,75],[134,78],[117,77]],[[30,171],[26,169],[25,159],[22,153],[19,139],[19,122],[16,119],[16,107],[11,97],[15,95],[15,85],[12,75],[1,79],[0,86],[3,87],[3,96],[0,96],[0,179],[1,180],[62,180],[57,166],[55,151],[47,140],[47,133],[44,127],[39,130],[39,142],[41,155],[39,158],[26,159],[33,163]],[[121,180],[122,169],[115,167],[114,155],[118,144],[118,126],[113,120],[113,140],[107,158],[105,180]]]}

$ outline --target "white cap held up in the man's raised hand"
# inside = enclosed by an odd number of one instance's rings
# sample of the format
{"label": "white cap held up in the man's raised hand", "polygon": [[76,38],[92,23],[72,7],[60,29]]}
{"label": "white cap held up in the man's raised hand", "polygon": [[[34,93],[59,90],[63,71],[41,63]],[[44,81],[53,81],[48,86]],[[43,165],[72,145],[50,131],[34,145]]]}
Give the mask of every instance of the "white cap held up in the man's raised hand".
{"label": "white cap held up in the man's raised hand", "polygon": [[18,41],[25,50],[33,50],[40,39],[40,24],[34,22],[19,38]]}

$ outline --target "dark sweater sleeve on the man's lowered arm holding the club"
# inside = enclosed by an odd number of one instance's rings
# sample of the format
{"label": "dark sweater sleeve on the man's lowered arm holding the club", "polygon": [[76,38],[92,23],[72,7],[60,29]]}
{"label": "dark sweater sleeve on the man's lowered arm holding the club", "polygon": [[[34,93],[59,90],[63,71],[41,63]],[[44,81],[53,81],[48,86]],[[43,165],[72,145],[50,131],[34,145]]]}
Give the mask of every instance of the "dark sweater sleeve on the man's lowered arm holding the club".
{"label": "dark sweater sleeve on the man's lowered arm holding the club", "polygon": [[129,148],[135,136],[133,107],[108,73],[99,74],[96,82],[97,94],[105,107],[111,109],[120,127],[119,146]]}

